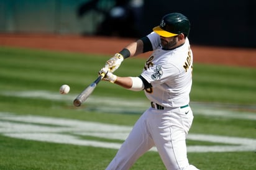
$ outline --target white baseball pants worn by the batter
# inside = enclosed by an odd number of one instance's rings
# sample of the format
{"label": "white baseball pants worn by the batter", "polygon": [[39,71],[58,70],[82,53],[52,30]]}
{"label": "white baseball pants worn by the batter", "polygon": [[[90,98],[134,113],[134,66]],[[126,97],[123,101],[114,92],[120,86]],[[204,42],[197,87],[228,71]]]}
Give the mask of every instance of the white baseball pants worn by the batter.
{"label": "white baseball pants worn by the batter", "polygon": [[147,109],[134,125],[107,170],[129,169],[135,161],[153,146],[171,170],[197,169],[188,163],[186,135],[193,122],[191,108]]}

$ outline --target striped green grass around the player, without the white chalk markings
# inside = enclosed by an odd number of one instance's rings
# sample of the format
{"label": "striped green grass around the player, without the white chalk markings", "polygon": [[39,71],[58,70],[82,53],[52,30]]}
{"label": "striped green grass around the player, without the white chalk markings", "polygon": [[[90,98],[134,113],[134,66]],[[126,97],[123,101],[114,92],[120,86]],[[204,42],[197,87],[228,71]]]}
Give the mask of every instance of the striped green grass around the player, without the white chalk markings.
{"label": "striped green grass around the player, without the white chalk markings", "polygon": [[[107,104],[90,105],[87,103],[76,108],[72,104],[73,98],[67,100],[64,99],[64,96],[63,99],[16,96],[21,92],[45,91],[45,94],[48,92],[60,97],[58,89],[62,84],[69,84],[71,87],[70,94],[65,97],[76,96],[96,79],[98,70],[104,66],[108,58],[109,56],[91,54],[0,47],[0,113],[134,125],[141,114],[139,110],[135,113],[130,113],[129,108],[126,112],[111,112],[111,109],[101,111],[99,109]],[[142,71],[144,62],[145,60],[142,58],[125,60],[116,74],[119,76],[138,76]],[[229,111],[240,115],[255,114],[255,74],[256,69],[254,68],[194,63],[191,101],[206,104],[231,104],[237,107],[224,108],[224,112]],[[104,81],[98,84],[91,97],[105,99],[106,102],[111,101],[111,99],[147,102],[144,92],[128,91]],[[118,102],[114,105],[119,107]],[[243,107],[244,105],[245,107]],[[96,109],[93,110],[93,107]],[[133,106],[130,107],[133,109]],[[135,106],[134,108],[136,109]],[[0,169],[104,169],[117,151],[91,146],[10,138],[1,131],[4,128],[1,123],[4,122],[6,120],[2,120],[0,117]],[[17,121],[16,123],[20,122]],[[37,123],[35,124],[37,125]],[[254,119],[196,115],[190,133],[256,139],[255,125]],[[104,136],[77,135],[77,137],[85,140],[122,142],[122,140],[111,140],[104,138]],[[227,144],[188,140],[188,146],[194,145]],[[199,169],[250,170],[256,167],[255,151],[188,153],[188,158],[190,163]],[[158,153],[148,152],[134,164],[132,169],[165,168]]]}

